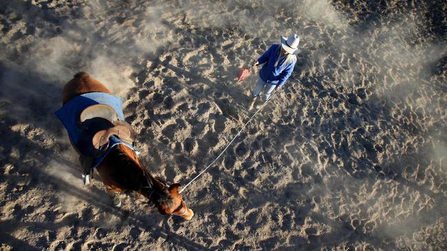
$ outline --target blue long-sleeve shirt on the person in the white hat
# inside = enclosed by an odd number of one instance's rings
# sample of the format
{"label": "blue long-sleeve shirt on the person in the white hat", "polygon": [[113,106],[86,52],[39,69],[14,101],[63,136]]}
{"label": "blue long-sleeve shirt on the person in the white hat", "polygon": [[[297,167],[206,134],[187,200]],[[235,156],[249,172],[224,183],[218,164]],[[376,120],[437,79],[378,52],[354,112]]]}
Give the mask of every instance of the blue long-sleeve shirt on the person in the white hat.
{"label": "blue long-sleeve shirt on the person in the white hat", "polygon": [[279,49],[280,46],[281,45],[276,44],[270,46],[270,48],[264,52],[263,56],[258,58],[258,62],[259,64],[265,63],[261,68],[261,71],[259,71],[259,77],[261,77],[261,80],[269,84],[282,87],[285,80],[292,75],[292,71],[294,70],[296,64],[296,56],[293,56],[290,62],[284,62],[287,55],[281,57],[275,67],[274,64],[281,54],[281,49]]}

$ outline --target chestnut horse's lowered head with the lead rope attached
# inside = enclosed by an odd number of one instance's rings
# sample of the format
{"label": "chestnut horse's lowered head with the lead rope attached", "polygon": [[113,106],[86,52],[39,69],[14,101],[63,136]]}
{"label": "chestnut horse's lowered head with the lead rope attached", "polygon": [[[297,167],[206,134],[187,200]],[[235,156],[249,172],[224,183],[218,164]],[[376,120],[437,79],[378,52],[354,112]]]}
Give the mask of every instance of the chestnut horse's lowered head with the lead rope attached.
{"label": "chestnut horse's lowered head with the lead rope attached", "polygon": [[182,199],[182,195],[178,192],[179,187],[180,184],[178,183],[165,187],[166,196],[160,197],[158,211],[162,215],[178,215],[189,220],[194,216],[194,212],[190,208],[186,207],[186,204]]}

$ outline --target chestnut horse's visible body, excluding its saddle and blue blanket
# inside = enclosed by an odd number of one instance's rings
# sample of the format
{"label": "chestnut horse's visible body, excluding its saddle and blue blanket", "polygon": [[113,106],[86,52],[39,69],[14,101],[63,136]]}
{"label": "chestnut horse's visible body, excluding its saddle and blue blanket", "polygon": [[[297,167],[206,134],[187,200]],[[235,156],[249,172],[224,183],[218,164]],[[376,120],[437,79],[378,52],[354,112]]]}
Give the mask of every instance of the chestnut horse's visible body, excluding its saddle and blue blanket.
{"label": "chestnut horse's visible body, excluding its saddle and blue blanket", "polygon": [[[62,93],[63,105],[85,93],[110,93],[110,91],[87,73],[80,72],[65,84]],[[75,146],[74,148],[80,154]],[[154,178],[140,163],[133,149],[126,144],[113,146],[96,170],[113,197],[115,192],[135,191],[153,202],[162,214],[179,215],[184,219],[191,219],[194,215],[177,191],[179,184],[171,184],[168,187],[165,182]]]}

